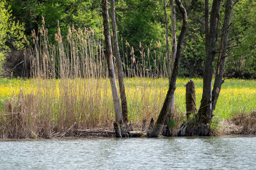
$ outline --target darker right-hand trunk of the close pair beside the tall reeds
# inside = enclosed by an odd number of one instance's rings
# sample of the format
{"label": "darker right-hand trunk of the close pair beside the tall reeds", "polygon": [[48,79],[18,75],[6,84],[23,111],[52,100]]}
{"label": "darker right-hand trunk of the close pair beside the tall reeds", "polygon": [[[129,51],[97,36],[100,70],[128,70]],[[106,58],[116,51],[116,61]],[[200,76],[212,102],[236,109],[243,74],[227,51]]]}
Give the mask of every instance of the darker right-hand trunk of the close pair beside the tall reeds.
{"label": "darker right-hand trunk of the close pair beside the tall reeds", "polygon": [[122,115],[123,115],[124,123],[128,123],[128,109],[127,109],[127,100],[125,95],[124,73],[123,73],[122,60],[120,57],[120,51],[118,47],[118,39],[117,39],[117,33],[116,33],[115,0],[111,0],[111,23],[112,23],[112,31],[113,31],[113,39],[114,39],[113,42],[114,42],[114,48],[115,48],[115,56],[117,61],[118,82],[119,82],[120,97],[121,97],[121,104],[122,104]]}

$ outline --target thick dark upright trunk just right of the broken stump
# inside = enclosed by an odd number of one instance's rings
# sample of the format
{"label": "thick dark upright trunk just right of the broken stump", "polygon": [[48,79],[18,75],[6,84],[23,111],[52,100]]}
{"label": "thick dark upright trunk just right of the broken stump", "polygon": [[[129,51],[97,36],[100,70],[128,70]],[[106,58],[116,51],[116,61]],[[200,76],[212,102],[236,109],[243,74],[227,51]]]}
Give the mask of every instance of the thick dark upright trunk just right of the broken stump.
{"label": "thick dark upright trunk just right of the broken stump", "polygon": [[[204,123],[209,125],[212,118],[212,72],[213,72],[213,61],[215,56],[216,41],[218,38],[218,20],[220,12],[220,2],[221,0],[213,0],[211,18],[210,18],[210,28],[209,37],[205,39],[207,43],[205,64],[204,64],[204,86],[203,95],[201,100],[200,109],[198,111],[199,119],[198,123]],[[205,134],[208,135],[208,134]]]}

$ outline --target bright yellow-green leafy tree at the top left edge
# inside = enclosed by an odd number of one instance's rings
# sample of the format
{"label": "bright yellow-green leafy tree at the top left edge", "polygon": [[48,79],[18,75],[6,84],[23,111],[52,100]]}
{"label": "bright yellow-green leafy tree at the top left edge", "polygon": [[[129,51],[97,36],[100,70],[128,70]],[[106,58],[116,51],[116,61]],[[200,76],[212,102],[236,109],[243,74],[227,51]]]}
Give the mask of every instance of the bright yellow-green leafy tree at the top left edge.
{"label": "bright yellow-green leafy tree at the top left edge", "polygon": [[24,47],[24,24],[13,20],[12,10],[6,0],[0,2],[0,71],[6,52]]}

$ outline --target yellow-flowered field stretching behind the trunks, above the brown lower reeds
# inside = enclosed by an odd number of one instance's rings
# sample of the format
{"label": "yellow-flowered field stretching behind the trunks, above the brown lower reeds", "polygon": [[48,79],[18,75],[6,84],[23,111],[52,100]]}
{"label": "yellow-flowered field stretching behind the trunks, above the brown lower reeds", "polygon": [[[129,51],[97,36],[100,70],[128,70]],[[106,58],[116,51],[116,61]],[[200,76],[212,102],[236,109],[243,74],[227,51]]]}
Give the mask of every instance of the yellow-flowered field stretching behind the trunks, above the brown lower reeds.
{"label": "yellow-flowered field stretching behind the trunks, above the brown lower reeds", "polygon": [[[186,112],[185,87],[189,79],[177,79],[175,91],[176,111]],[[196,105],[200,106],[202,96],[202,79],[193,79],[196,87]],[[6,98],[17,97],[19,92],[33,93],[41,99],[47,98],[60,103],[61,97],[72,97],[78,102],[83,98],[92,112],[108,110],[109,118],[113,119],[113,104],[108,79],[76,79],[76,80],[40,80],[38,79],[1,79],[0,100],[4,105]],[[153,116],[156,118],[163,104],[168,89],[167,79],[131,78],[125,79],[128,99],[129,117],[131,121]],[[256,81],[227,79],[221,89],[220,98],[214,114],[216,118],[227,119],[237,112],[250,112],[256,109]],[[74,99],[75,98],[75,99]],[[62,98],[63,100],[63,98]],[[48,101],[51,104],[51,101]],[[78,102],[78,103],[77,103]],[[95,105],[93,105],[95,104]],[[78,106],[77,106],[78,107]],[[100,117],[100,115],[99,115]]]}

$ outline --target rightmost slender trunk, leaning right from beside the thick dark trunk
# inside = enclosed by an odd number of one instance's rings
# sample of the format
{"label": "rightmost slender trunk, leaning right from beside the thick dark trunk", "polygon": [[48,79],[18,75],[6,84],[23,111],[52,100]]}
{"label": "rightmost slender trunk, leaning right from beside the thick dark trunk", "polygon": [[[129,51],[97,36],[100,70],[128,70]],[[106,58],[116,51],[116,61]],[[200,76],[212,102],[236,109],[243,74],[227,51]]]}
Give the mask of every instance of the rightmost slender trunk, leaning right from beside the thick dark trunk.
{"label": "rightmost slender trunk, leaning right from beside the thick dark trunk", "polygon": [[228,28],[230,26],[230,17],[232,11],[232,0],[227,0],[226,9],[225,9],[225,17],[223,22],[223,27],[221,30],[221,47],[220,54],[218,56],[218,63],[215,75],[214,86],[212,89],[212,111],[214,111],[218,97],[220,95],[221,85],[223,84],[223,72],[225,66],[225,58],[227,55],[227,46],[228,46]]}

